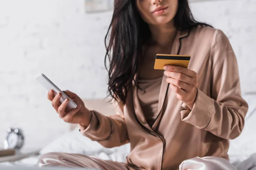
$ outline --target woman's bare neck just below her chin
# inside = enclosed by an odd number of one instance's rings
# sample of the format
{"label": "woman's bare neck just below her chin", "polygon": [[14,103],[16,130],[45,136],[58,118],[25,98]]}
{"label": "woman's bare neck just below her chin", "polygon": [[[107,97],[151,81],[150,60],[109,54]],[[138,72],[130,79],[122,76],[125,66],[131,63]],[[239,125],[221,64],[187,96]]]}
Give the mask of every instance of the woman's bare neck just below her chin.
{"label": "woman's bare neck just below her chin", "polygon": [[173,22],[166,23],[165,25],[149,25],[149,29],[153,44],[160,47],[172,45],[177,34],[177,29]]}

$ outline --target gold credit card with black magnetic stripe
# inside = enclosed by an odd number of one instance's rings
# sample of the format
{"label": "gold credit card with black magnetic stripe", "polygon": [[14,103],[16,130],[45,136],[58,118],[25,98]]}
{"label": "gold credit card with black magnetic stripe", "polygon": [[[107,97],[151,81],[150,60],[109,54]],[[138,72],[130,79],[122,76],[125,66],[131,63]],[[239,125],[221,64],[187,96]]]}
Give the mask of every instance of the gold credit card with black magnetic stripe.
{"label": "gold credit card with black magnetic stripe", "polygon": [[171,54],[157,54],[154,69],[163,70],[165,65],[175,65],[188,68],[190,56],[186,55],[171,55]]}

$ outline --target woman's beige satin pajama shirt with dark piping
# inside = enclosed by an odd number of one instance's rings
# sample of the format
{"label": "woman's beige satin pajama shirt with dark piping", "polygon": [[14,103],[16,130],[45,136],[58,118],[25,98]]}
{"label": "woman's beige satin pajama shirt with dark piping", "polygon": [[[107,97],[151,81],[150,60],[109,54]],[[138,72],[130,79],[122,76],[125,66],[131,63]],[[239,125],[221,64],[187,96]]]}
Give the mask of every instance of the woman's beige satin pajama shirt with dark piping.
{"label": "woman's beige satin pajama shirt with dark piping", "polygon": [[[239,72],[228,38],[220,31],[198,26],[179,31],[171,54],[191,55],[189,69],[198,73],[198,94],[192,111],[168,88],[163,76],[158,116],[150,127],[133,85],[116,115],[92,111],[81,133],[105,147],[131,143],[127,163],[147,170],[176,170],[195,156],[228,159],[229,139],[240,135],[248,105],[241,97]],[[136,77],[135,77],[136,79]],[[100,107],[100,106],[99,106]]]}

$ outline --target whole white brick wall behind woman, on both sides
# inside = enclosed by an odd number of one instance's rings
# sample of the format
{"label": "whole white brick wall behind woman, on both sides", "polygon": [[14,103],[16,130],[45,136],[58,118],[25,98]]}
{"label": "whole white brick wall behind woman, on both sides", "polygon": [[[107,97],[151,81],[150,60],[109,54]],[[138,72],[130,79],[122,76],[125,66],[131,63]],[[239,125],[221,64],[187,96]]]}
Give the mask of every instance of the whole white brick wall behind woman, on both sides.
{"label": "whole white brick wall behind woman, on both sides", "polygon": [[[27,149],[67,132],[33,79],[38,73],[82,98],[105,97],[103,39],[111,12],[85,14],[83,2],[0,0],[0,142],[11,125],[23,128]],[[248,76],[256,72],[256,0],[197,2],[192,11],[231,36],[243,89],[253,90],[256,80]]]}

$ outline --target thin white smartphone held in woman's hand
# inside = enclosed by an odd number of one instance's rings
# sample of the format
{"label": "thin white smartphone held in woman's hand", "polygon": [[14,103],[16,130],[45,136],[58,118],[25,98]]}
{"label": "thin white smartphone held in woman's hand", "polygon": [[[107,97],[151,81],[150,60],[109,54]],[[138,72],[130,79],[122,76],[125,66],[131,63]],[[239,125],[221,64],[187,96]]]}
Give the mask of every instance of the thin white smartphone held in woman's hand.
{"label": "thin white smartphone held in woman's hand", "polygon": [[73,100],[71,100],[66,94],[63,93],[51,80],[49,80],[44,74],[38,74],[35,76],[35,79],[47,90],[50,91],[51,89],[54,91],[54,95],[61,93],[61,99],[60,102],[64,102],[65,99],[69,99],[69,102],[67,104],[67,108],[72,109],[76,108],[77,105]]}

